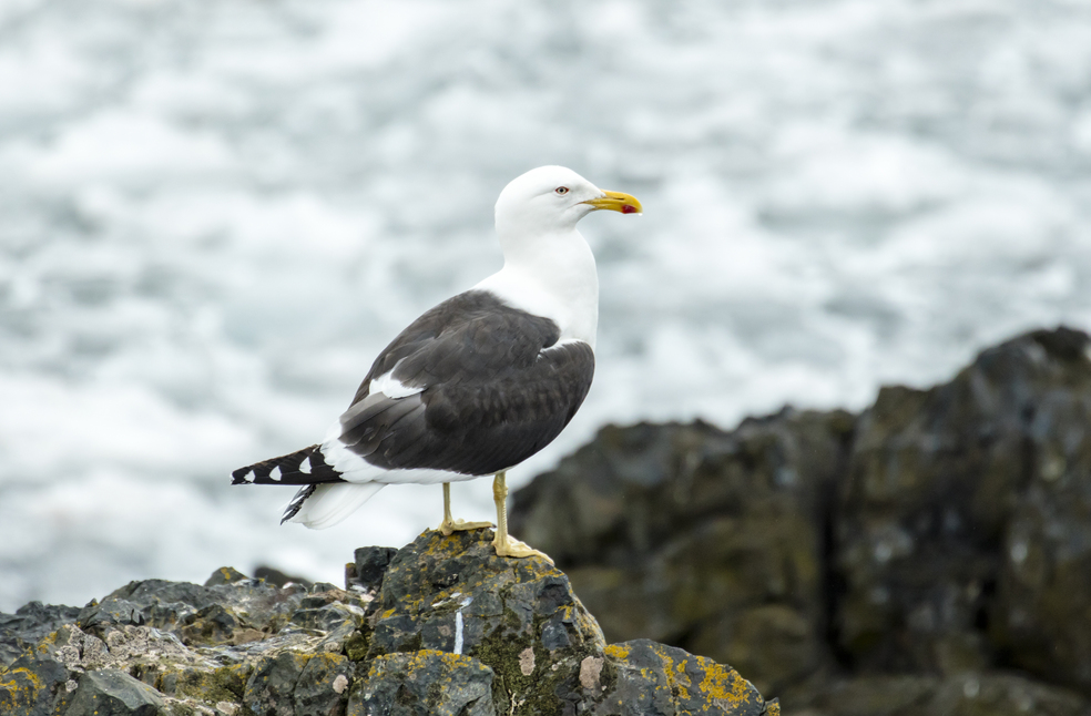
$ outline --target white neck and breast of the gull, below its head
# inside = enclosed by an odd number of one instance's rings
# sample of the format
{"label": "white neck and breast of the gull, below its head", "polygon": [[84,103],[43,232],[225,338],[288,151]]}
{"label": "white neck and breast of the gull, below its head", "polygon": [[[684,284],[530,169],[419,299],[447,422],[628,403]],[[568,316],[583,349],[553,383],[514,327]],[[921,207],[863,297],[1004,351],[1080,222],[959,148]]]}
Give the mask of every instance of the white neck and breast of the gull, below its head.
{"label": "white neck and breast of the gull, below its head", "polygon": [[599,326],[599,276],[591,247],[575,226],[550,234],[512,236],[498,222],[503,268],[473,288],[534,316],[551,319],[560,340],[594,348]]}

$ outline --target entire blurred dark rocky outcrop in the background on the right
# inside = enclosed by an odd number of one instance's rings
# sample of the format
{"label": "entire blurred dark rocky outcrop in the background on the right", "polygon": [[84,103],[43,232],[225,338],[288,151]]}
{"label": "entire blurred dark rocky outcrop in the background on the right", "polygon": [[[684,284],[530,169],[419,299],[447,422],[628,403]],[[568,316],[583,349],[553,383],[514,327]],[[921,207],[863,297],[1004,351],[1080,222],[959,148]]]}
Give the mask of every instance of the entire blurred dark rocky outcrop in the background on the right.
{"label": "entire blurred dark rocky outcrop in the background on the right", "polygon": [[511,529],[609,640],[731,663],[788,708],[1091,713],[1089,356],[1034,331],[859,416],[605,428]]}

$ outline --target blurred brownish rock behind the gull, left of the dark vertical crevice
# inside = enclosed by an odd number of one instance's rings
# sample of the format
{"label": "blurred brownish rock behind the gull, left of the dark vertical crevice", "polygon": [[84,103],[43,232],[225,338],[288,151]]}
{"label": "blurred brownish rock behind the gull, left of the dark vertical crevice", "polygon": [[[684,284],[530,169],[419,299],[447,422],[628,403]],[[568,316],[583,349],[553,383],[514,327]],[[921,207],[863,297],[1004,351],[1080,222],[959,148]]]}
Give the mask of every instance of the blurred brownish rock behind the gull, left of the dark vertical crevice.
{"label": "blurred brownish rock behind the gull, left of the dark vertical crevice", "polygon": [[785,410],[733,432],[604,428],[516,492],[512,532],[567,570],[610,641],[734,664],[762,691],[826,656],[828,513],[846,412]]}

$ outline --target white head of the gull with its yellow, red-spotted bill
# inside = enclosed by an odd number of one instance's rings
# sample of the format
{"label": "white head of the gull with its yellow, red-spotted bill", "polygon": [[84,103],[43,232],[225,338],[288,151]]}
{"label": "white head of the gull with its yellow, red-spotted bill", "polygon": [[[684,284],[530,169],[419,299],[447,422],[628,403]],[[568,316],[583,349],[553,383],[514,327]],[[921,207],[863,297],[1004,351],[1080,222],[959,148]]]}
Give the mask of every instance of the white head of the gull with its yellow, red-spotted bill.
{"label": "white head of the gull with its yellow, red-spotted bill", "polygon": [[570,232],[598,209],[640,214],[634,197],[605,192],[563,166],[540,166],[511,181],[497,200],[497,231],[521,234]]}

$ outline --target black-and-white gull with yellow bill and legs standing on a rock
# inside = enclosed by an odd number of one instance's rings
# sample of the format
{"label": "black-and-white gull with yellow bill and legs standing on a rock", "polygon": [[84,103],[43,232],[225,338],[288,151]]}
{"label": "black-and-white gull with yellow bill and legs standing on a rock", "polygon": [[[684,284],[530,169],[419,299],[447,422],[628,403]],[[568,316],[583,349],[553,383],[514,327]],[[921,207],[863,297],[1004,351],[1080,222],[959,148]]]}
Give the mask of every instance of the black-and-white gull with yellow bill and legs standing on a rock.
{"label": "black-and-white gull with yellow bill and legs standing on a rock", "polygon": [[600,209],[643,211],[562,166],[514,178],[496,204],[503,267],[390,341],[323,442],[239,468],[232,484],[298,485],[281,522],[323,529],[388,484],[442,482],[450,535],[492,526],[452,519],[450,483],[494,475],[497,555],[549,560],[508,534],[507,472],[557,438],[591,388],[599,278],[577,224]]}

